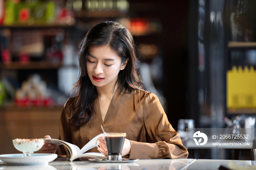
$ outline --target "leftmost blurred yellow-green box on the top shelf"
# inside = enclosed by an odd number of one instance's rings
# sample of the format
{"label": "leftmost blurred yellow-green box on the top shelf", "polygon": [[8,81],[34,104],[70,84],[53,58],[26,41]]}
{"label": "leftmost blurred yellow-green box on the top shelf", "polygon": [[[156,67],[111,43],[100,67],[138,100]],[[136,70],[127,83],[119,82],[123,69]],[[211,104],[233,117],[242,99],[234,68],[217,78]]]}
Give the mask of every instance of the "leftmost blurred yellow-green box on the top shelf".
{"label": "leftmost blurred yellow-green box on the top shelf", "polygon": [[11,25],[15,22],[15,3],[13,1],[5,1],[4,25]]}

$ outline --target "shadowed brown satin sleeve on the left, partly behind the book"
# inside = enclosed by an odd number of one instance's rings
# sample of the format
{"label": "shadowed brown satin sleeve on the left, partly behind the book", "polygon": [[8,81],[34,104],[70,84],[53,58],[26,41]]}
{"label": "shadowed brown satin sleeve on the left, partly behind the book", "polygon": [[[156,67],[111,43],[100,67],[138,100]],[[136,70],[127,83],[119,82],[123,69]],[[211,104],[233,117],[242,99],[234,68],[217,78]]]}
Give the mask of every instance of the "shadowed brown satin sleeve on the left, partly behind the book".
{"label": "shadowed brown satin sleeve on the left, partly behind the book", "polygon": [[[61,116],[60,116],[60,136],[59,139],[63,140],[68,143],[72,143],[72,136],[69,126],[69,115],[72,111],[71,108],[71,99],[69,98],[68,101],[65,103],[64,108],[62,110]],[[70,158],[70,154],[68,149],[64,145],[60,145],[57,147],[56,154],[58,157],[63,158]]]}

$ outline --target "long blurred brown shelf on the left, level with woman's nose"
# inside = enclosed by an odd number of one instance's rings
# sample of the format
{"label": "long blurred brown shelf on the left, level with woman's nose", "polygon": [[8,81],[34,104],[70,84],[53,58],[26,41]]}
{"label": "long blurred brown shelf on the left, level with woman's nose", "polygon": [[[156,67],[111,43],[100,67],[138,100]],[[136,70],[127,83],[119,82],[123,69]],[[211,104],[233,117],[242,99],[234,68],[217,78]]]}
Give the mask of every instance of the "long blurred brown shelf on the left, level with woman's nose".
{"label": "long blurred brown shelf on the left, level with woman's nose", "polygon": [[28,63],[11,62],[8,64],[0,63],[0,69],[59,69],[60,67],[75,67],[75,65],[63,65],[62,63],[51,63],[48,61],[31,61]]}

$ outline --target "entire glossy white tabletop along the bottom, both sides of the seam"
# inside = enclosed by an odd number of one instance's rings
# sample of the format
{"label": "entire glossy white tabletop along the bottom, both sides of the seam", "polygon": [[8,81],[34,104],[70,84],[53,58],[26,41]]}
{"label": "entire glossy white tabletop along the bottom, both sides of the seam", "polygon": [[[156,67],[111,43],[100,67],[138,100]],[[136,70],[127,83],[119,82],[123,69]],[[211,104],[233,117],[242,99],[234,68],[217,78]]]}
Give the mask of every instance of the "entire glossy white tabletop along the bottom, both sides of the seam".
{"label": "entire glossy white tabletop along the bottom, both sides of the seam", "polygon": [[231,170],[255,170],[255,164],[256,161],[216,159],[141,159],[133,163],[97,163],[57,158],[49,165],[39,166],[5,166],[0,163],[0,170],[218,170],[219,166]]}

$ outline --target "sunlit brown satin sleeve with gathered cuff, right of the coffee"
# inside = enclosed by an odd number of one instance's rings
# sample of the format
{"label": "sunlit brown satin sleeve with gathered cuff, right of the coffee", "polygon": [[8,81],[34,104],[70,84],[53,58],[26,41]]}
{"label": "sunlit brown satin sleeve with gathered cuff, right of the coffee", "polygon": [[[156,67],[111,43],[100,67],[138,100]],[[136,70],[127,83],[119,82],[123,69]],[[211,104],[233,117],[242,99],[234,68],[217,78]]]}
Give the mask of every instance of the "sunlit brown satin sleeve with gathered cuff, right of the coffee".
{"label": "sunlit brown satin sleeve with gathered cuff, right of the coffee", "polygon": [[177,159],[188,157],[187,148],[182,145],[180,135],[169,123],[162,105],[154,93],[145,94],[143,116],[148,143],[130,141],[129,158]]}

